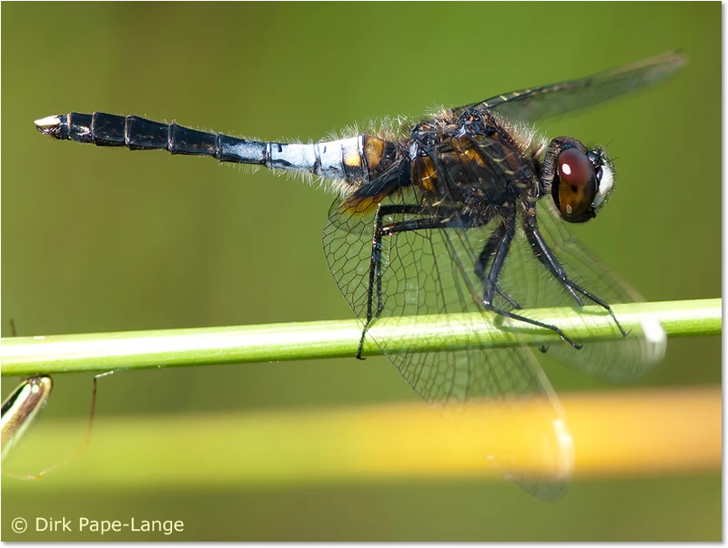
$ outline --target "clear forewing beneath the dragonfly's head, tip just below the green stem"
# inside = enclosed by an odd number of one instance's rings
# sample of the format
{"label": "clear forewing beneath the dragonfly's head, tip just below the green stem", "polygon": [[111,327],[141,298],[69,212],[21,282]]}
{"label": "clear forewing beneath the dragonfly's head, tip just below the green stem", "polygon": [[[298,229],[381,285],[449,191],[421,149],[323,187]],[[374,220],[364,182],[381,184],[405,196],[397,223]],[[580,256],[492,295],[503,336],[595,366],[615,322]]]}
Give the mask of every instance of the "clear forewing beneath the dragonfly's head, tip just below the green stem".
{"label": "clear forewing beneath the dragonfly's head, tip just below the green stem", "polygon": [[[571,235],[547,200],[548,198],[542,199],[537,206],[541,236],[566,271],[567,277],[581,289],[587,290],[609,305],[641,302],[643,299],[636,290],[608,269],[590,249]],[[480,242],[489,233],[490,226],[470,228],[467,231],[467,238],[473,243]],[[452,233],[449,236],[455,238]],[[461,235],[457,236],[463,238]],[[475,251],[471,253],[477,257]],[[463,269],[465,268],[463,265]],[[540,314],[540,309],[579,308],[579,303],[570,292],[539,260],[535,259],[521,227],[517,229],[512,240],[508,258],[498,279],[498,287],[510,299],[496,296],[494,304],[497,308],[519,313],[532,320],[548,323],[546,317]],[[585,306],[594,310],[593,315],[609,318],[609,312],[600,308],[594,301],[583,296],[581,299]],[[511,300],[524,310],[513,307]],[[619,314],[616,315],[616,319],[620,320]],[[589,320],[589,316],[583,320],[581,329],[590,330]],[[614,323],[615,332],[618,329]],[[565,333],[577,343],[580,342],[574,333],[566,329]],[[584,343],[581,349],[575,349],[571,344],[561,342],[549,346],[546,352],[552,358],[592,377],[611,382],[624,382],[632,381],[652,370],[662,360],[666,345],[662,326],[656,320],[645,318],[642,320],[642,327],[632,328],[627,337],[590,341]]]}

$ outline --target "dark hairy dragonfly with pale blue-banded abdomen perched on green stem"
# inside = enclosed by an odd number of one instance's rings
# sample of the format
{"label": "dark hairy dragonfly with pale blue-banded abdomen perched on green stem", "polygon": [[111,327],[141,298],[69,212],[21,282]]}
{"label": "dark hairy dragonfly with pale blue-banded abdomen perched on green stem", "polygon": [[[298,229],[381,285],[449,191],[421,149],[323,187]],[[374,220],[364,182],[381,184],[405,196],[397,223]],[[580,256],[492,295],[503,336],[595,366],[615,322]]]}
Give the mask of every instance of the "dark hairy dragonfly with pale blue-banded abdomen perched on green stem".
{"label": "dark hairy dragonfly with pale blue-banded abdomen perched on green stem", "polygon": [[[495,318],[550,330],[561,342],[541,352],[611,381],[650,370],[664,353],[664,332],[654,336],[659,325],[622,327],[612,304],[641,297],[568,228],[604,208],[616,183],[612,159],[603,147],[573,137],[541,137],[533,123],[652,85],[686,62],[682,53],[669,52],[309,143],[231,137],[102,112],[45,117],[35,126],[61,140],[210,156],[318,181],[336,196],[323,249],[361,323],[357,357],[370,337],[433,405],[541,398],[543,429],[534,451],[548,453],[553,472],[510,476],[551,500],[563,492],[573,465],[563,411],[533,350],[522,343],[486,349],[492,335],[482,326]],[[618,340],[584,344],[540,318],[538,310],[557,306],[602,310]],[[446,332],[468,332],[469,344],[403,350],[398,323],[407,319],[416,329],[432,315],[442,315]]]}

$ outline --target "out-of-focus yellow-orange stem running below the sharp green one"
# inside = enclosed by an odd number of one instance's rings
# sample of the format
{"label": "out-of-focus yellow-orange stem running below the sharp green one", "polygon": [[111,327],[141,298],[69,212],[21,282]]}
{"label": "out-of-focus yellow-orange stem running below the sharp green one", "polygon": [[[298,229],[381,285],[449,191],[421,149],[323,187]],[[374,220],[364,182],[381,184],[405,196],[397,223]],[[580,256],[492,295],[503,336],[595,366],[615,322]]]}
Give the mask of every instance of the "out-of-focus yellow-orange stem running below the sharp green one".
{"label": "out-of-focus yellow-orange stem running below the sharp green one", "polygon": [[[565,394],[561,402],[577,478],[721,470],[720,388]],[[538,423],[529,412],[527,407],[519,421]],[[482,416],[498,414],[489,407]],[[532,427],[511,429],[508,413],[504,417],[497,424],[480,418],[456,423],[420,403],[182,418],[98,416],[88,451],[37,485],[224,489],[500,475],[486,458],[489,447],[525,452],[512,432]],[[30,437],[43,436],[44,446],[56,448],[84,435],[84,421],[52,424]],[[47,464],[47,452],[26,453],[12,463],[14,472]],[[23,485],[4,479],[3,490]]]}

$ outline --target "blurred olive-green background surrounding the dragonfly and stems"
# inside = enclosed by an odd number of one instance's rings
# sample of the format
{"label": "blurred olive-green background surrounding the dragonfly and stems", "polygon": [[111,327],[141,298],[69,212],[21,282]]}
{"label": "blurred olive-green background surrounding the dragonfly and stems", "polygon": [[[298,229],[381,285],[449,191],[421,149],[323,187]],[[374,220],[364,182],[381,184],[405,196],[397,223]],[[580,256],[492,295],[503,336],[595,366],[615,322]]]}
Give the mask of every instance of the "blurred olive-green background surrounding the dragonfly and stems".
{"label": "blurred olive-green background surrounding the dragonfly and stems", "polygon": [[[675,48],[691,63],[671,81],[541,129],[612,141],[617,192],[574,230],[612,269],[649,300],[719,297],[720,19],[719,3],[4,3],[3,336],[11,317],[21,335],[351,317],[321,251],[330,198],[317,189],[207,158],[54,142],[35,118],[103,110],[318,139]],[[718,337],[671,340],[637,387],[719,383],[720,353]],[[614,389],[546,370],[557,391]],[[3,395],[14,386],[5,378]],[[69,449],[80,442],[90,386],[57,376],[34,437],[74,417]],[[417,401],[383,358],[118,373],[101,381],[95,428],[125,414],[378,401]],[[715,540],[720,494],[717,474],[575,482],[553,505],[505,481],[99,495],[49,478],[3,494],[0,533],[21,540],[15,515],[93,513],[184,520],[175,540]],[[125,538],[162,537],[108,540]]]}

